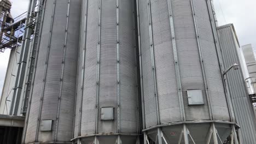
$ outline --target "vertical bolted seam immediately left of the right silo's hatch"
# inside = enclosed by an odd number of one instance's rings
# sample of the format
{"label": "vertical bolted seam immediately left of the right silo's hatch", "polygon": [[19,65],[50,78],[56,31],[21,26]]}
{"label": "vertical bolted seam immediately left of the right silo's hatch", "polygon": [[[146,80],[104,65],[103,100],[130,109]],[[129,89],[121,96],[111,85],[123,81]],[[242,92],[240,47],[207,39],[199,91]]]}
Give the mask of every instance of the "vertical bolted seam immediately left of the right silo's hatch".
{"label": "vertical bolted seam immediately left of the right silo's hatch", "polygon": [[177,47],[176,47],[176,37],[175,37],[175,31],[174,31],[171,0],[168,0],[168,12],[169,12],[169,18],[170,18],[172,49],[173,49],[174,63],[175,63],[175,69],[176,69],[176,79],[177,79],[177,85],[178,85],[179,105],[181,106],[182,121],[185,122],[186,118],[185,118],[185,111],[184,111],[184,104],[183,104],[181,76],[179,75],[179,63],[178,63],[178,54],[177,54]]}

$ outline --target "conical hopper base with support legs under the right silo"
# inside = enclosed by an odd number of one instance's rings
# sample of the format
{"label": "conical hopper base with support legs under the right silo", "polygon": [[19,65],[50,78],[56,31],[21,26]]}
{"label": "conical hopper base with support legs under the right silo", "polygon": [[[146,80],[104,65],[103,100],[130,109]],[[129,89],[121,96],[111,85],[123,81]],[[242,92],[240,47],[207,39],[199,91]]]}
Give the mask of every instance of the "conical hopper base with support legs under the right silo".
{"label": "conical hopper base with support legs under the right silo", "polygon": [[[153,128],[144,132],[144,143],[158,144],[223,143],[231,135],[238,143],[231,123],[189,123]],[[187,134],[187,135],[185,135]]]}

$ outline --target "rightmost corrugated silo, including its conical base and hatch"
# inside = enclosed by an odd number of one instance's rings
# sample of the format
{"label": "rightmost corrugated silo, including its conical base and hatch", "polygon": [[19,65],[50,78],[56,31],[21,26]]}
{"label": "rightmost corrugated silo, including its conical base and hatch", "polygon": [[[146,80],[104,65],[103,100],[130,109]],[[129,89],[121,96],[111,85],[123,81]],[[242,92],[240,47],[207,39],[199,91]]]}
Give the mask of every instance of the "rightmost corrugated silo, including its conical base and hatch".
{"label": "rightmost corrugated silo, including its conical base and hatch", "polygon": [[210,1],[137,0],[137,11],[144,143],[223,142],[235,119]]}

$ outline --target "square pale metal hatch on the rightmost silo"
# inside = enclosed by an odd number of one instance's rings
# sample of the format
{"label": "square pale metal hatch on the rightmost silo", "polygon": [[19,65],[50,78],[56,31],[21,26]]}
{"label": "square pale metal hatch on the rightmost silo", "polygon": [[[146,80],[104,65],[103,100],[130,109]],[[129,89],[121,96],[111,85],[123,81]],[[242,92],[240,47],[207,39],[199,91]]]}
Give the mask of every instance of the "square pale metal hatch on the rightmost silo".
{"label": "square pale metal hatch on the rightmost silo", "polygon": [[188,90],[188,103],[189,105],[203,105],[203,95],[202,90],[195,89],[195,90]]}

